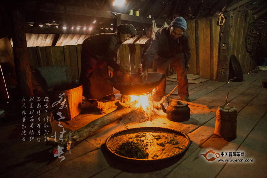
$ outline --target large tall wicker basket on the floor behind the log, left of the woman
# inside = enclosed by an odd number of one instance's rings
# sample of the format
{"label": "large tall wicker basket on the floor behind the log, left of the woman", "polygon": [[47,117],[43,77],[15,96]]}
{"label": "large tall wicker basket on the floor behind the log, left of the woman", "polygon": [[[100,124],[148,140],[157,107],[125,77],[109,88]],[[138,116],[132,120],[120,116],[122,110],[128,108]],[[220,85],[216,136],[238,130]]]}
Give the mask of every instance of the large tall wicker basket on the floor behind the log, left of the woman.
{"label": "large tall wicker basket on the floor behind the log, left of the woman", "polygon": [[[62,95],[65,93],[64,95]],[[54,87],[48,90],[51,105],[55,108],[56,112],[61,112],[61,116],[64,116],[66,120],[71,120],[81,112],[83,87],[81,84],[65,84]],[[62,95],[62,96],[61,96]],[[61,102],[58,102],[61,97]],[[62,106],[62,103],[66,99]],[[55,119],[59,119],[60,116],[55,116]]]}

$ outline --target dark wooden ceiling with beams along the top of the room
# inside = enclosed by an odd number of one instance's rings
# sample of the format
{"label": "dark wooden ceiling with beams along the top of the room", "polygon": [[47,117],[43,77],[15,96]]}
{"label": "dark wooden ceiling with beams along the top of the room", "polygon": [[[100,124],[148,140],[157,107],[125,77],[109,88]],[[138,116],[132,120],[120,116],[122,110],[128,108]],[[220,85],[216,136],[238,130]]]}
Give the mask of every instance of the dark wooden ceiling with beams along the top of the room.
{"label": "dark wooden ceiling with beams along the top of the room", "polygon": [[[146,29],[155,19],[157,26],[171,23],[177,16],[185,19],[210,17],[228,11],[253,15],[255,20],[267,22],[265,0],[126,0],[123,7],[114,7],[114,0],[22,0],[6,2],[1,12],[1,25],[12,22],[13,9],[25,12],[26,31],[31,33],[96,34],[112,29],[114,19],[120,14],[121,23],[132,23],[137,29]],[[3,8],[2,8],[3,9]],[[139,17],[130,16],[128,10],[139,11]],[[151,15],[151,19],[147,18]],[[96,21],[94,23],[94,21]],[[7,26],[4,24],[4,26]],[[43,25],[43,28],[39,28]],[[66,30],[62,27],[66,26]],[[80,26],[80,31],[71,27]],[[87,30],[82,30],[84,27]],[[92,30],[88,30],[89,27]],[[112,32],[112,31],[110,31]]]}

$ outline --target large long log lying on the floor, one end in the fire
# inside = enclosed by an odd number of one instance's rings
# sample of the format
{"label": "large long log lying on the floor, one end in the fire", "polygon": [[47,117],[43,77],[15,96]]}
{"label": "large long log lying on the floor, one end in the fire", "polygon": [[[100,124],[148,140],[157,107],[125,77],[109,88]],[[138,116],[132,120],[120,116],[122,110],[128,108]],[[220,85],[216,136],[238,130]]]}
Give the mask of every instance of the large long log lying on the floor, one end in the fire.
{"label": "large long log lying on the floor, one end in the fire", "polygon": [[92,134],[100,128],[138,109],[137,107],[135,107],[136,101],[128,102],[127,104],[117,101],[115,104],[118,106],[116,110],[96,120],[93,120],[84,127],[72,132],[70,138],[68,134],[66,134],[63,138],[63,142],[55,142],[54,138],[48,138],[47,144],[55,146],[54,149],[57,149],[58,145],[64,146],[64,149],[65,146],[67,146],[66,149],[69,150],[87,137],[92,136]]}

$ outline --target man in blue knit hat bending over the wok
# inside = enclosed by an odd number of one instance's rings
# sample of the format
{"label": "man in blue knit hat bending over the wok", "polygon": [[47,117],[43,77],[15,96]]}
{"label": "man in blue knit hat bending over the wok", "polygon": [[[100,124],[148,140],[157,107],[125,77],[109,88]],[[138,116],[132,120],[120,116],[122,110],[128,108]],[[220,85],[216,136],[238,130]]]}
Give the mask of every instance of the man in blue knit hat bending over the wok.
{"label": "man in blue knit hat bending over the wok", "polygon": [[[177,73],[178,95],[183,101],[190,101],[188,98],[188,80],[186,71],[191,56],[186,21],[183,17],[176,17],[169,27],[158,30],[155,39],[146,50],[143,59],[142,80],[147,79],[147,70],[155,59],[158,67],[157,72],[165,74],[168,65],[171,64]],[[160,101],[166,92],[166,80],[164,79],[153,95],[154,101]]]}

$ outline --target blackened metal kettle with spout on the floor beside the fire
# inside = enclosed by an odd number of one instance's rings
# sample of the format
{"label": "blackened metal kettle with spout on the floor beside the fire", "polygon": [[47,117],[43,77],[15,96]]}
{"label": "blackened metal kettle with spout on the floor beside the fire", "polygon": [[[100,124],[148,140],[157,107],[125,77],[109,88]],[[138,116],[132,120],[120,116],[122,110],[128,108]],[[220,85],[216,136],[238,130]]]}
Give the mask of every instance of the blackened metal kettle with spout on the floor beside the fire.
{"label": "blackened metal kettle with spout on the floor beside the fire", "polygon": [[[168,102],[169,103],[169,102]],[[167,114],[167,119],[174,122],[183,122],[190,119],[190,108],[188,104],[180,101],[174,101],[165,109],[163,104],[160,104],[162,111]]]}

